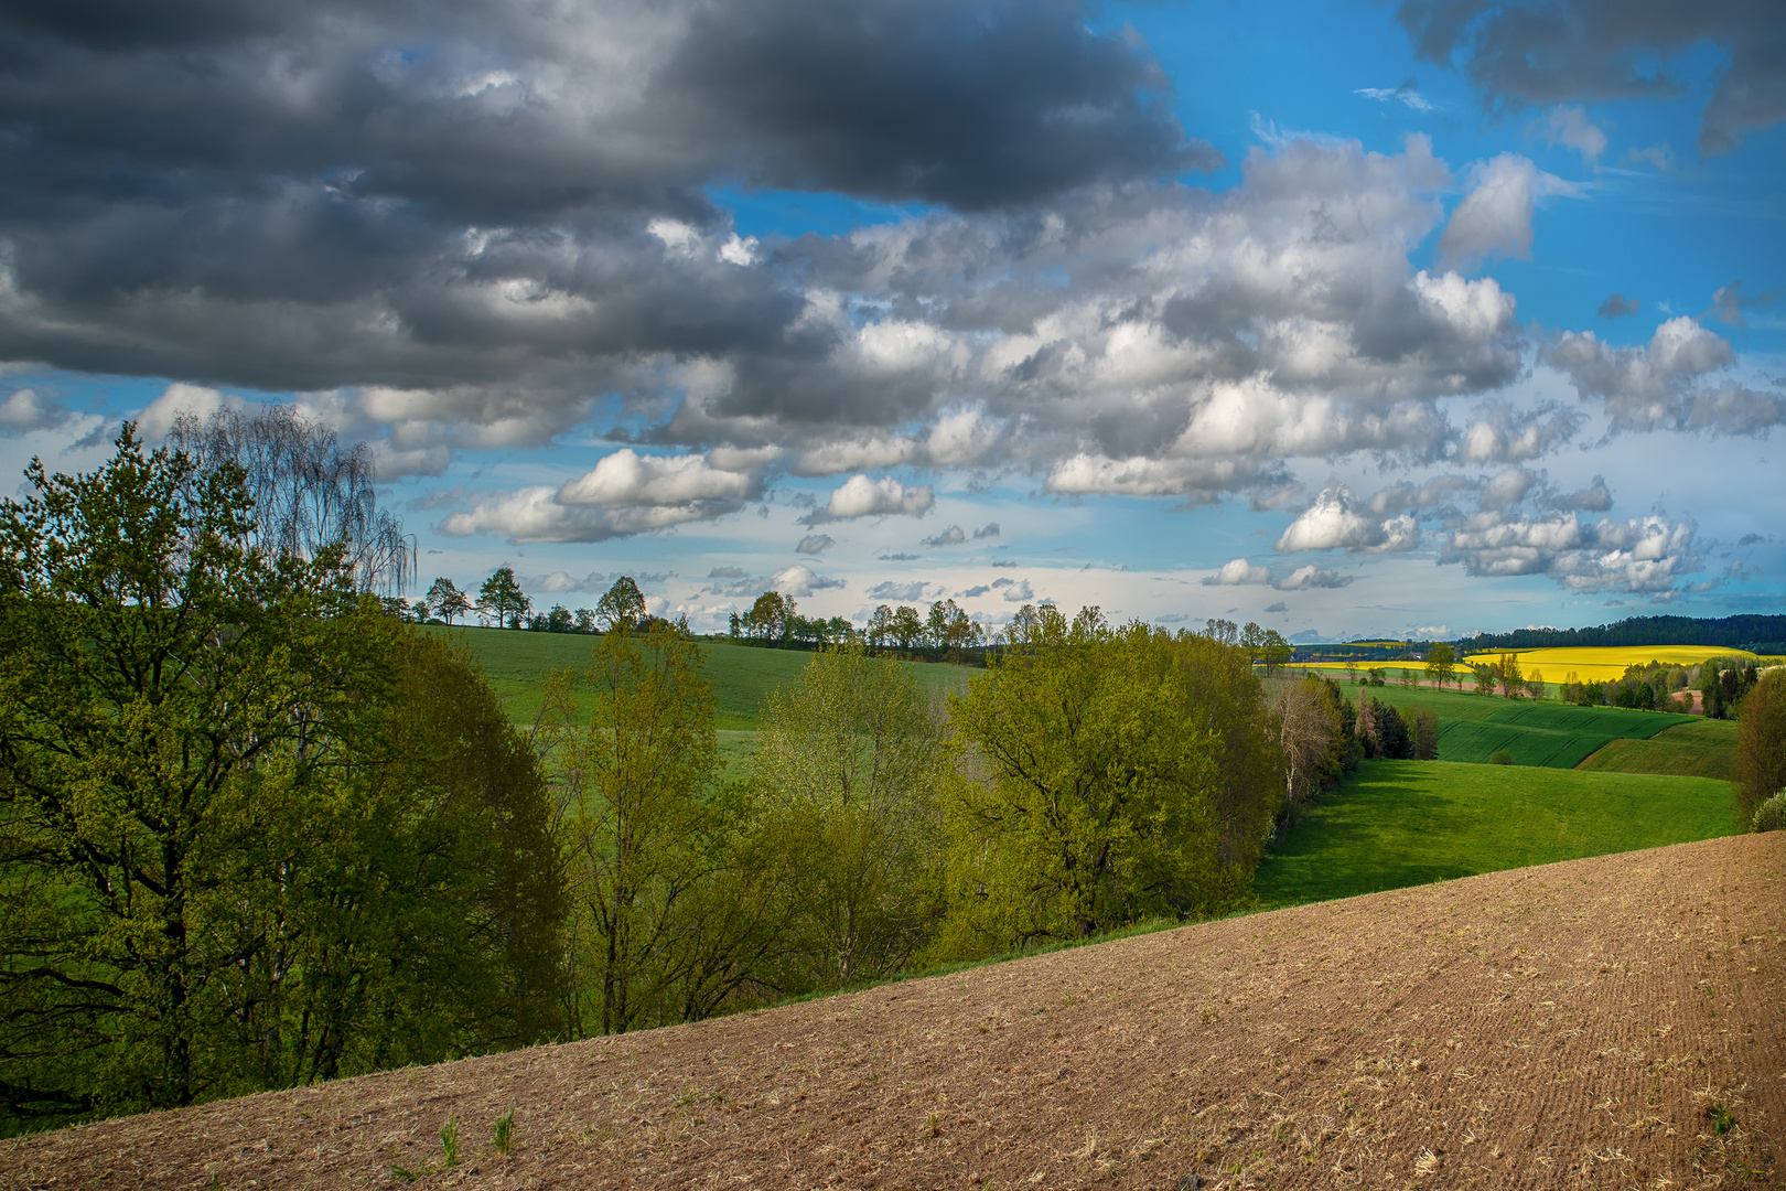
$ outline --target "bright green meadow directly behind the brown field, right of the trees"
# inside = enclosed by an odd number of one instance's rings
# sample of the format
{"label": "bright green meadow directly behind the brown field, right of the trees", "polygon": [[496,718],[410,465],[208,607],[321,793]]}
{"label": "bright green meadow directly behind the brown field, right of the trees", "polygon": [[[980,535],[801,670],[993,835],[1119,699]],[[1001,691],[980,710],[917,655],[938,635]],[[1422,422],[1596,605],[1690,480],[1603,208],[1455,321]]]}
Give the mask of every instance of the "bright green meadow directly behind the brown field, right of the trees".
{"label": "bright green meadow directly behind the brown field, right of the trees", "polygon": [[1366,761],[1279,836],[1254,893],[1300,905],[1741,829],[1729,784],[1702,777]]}

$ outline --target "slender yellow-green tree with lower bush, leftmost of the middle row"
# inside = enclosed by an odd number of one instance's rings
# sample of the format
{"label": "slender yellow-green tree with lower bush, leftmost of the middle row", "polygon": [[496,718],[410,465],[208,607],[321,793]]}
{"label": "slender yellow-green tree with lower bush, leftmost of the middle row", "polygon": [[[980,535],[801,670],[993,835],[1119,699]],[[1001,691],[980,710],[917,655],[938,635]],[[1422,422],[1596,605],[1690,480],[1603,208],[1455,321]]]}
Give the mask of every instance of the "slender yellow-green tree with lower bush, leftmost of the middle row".
{"label": "slender yellow-green tree with lower bush, leftmost of the middle row", "polygon": [[559,673],[538,730],[564,805],[572,1030],[625,1030],[716,1012],[779,959],[788,850],[763,791],[718,784],[702,650],[672,625],[604,636],[577,727]]}

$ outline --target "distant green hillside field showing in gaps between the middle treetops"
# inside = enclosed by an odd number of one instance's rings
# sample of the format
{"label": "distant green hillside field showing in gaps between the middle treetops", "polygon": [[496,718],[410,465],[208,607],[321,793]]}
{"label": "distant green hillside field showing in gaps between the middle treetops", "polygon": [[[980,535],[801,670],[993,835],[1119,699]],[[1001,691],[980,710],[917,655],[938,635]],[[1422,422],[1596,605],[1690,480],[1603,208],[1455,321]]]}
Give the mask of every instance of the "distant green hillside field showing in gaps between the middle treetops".
{"label": "distant green hillside field showing in gaps between the middle treetops", "polygon": [[[464,641],[484,668],[489,686],[507,707],[513,723],[532,723],[545,702],[545,677],[552,670],[588,670],[597,639],[579,632],[527,632],[522,629],[445,629]],[[727,732],[757,727],[757,709],[770,691],[791,682],[805,666],[805,650],[761,650],[748,645],[702,643],[702,675],[713,682],[714,725]],[[938,698],[966,687],[970,666],[941,662],[902,662],[918,682]],[[722,743],[722,755],[734,755],[741,743]],[[745,748],[748,752],[748,748]]]}

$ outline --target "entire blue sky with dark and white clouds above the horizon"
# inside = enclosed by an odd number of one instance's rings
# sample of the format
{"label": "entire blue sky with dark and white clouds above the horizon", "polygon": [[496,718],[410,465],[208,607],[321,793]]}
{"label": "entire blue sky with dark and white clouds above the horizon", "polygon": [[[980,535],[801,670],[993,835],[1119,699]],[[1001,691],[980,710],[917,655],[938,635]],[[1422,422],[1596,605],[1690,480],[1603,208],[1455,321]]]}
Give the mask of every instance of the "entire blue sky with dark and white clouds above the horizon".
{"label": "entire blue sky with dark and white clouds above the horizon", "polygon": [[0,59],[7,477],[293,404],[411,595],[697,630],[1786,611],[1773,0],[64,0]]}

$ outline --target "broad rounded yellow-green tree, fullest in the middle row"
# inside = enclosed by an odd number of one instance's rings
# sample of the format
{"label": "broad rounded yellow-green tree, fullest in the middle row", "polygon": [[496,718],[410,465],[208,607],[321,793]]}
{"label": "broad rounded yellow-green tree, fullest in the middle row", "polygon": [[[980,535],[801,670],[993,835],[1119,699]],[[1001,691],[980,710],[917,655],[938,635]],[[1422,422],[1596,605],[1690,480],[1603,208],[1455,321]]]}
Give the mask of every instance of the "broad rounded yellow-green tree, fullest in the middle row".
{"label": "broad rounded yellow-green tree, fullest in the middle row", "polygon": [[1245,654],[1045,605],[950,711],[972,752],[945,805],[943,954],[1245,898],[1282,796]]}

